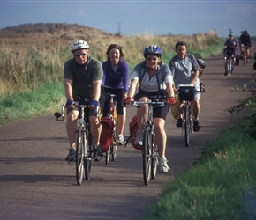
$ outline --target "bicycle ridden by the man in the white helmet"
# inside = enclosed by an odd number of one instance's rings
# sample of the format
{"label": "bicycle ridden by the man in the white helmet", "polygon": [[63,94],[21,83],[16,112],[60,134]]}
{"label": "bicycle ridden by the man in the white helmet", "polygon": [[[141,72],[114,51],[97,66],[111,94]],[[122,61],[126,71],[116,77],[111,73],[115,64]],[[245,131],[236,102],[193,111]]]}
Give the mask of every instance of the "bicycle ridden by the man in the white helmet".
{"label": "bicycle ridden by the man in the white helmet", "polygon": [[[79,108],[79,118],[78,118],[78,129],[76,131],[76,179],[78,185],[82,184],[83,178],[85,180],[90,179],[92,158],[93,158],[93,146],[94,139],[90,133],[90,122],[88,119],[88,114],[86,109],[90,108],[88,100],[85,100],[87,104],[81,105],[76,102],[74,106]],[[57,121],[58,118],[64,117],[64,108],[62,107],[62,114],[55,113]]]}

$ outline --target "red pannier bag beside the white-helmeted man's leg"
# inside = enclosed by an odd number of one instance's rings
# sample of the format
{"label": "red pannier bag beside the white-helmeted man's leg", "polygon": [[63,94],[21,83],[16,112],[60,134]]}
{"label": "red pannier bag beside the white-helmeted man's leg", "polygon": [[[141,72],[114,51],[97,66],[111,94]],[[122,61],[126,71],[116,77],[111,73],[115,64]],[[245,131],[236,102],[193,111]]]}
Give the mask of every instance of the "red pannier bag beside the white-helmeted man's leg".
{"label": "red pannier bag beside the white-helmeted man's leg", "polygon": [[100,144],[102,147],[102,153],[105,153],[109,150],[109,146],[112,143],[114,136],[114,121],[109,117],[102,117],[102,134],[100,137]]}

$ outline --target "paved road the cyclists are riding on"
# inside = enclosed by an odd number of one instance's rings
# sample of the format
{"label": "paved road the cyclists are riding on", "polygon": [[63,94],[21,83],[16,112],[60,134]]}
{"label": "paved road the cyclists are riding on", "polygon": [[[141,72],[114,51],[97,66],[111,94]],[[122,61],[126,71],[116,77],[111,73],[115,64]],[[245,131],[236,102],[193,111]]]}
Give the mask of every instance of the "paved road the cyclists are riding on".
{"label": "paved road the cyclists are riding on", "polygon": [[[92,178],[78,187],[75,165],[64,158],[68,152],[63,122],[52,115],[0,127],[0,219],[141,219],[161,194],[167,182],[187,171],[200,157],[201,148],[220,129],[230,127],[230,114],[245,92],[231,92],[234,85],[247,83],[255,70],[235,67],[230,80],[223,76],[222,56],[207,60],[201,98],[203,128],[184,147],[181,128],[169,113],[167,157],[173,172],[157,174],[149,186],[142,179],[141,155],[129,144],[117,151],[117,160],[93,163]],[[127,109],[125,136],[134,109]]]}

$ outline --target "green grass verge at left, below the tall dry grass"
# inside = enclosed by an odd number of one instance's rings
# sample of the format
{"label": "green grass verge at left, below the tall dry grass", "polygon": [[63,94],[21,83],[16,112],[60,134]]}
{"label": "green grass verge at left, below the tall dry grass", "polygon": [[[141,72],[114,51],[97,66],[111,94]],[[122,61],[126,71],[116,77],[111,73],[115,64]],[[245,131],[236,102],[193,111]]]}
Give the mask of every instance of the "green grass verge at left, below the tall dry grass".
{"label": "green grass verge at left, below the tall dry grass", "polygon": [[63,102],[62,82],[44,84],[33,92],[12,94],[0,101],[0,125],[53,114]]}

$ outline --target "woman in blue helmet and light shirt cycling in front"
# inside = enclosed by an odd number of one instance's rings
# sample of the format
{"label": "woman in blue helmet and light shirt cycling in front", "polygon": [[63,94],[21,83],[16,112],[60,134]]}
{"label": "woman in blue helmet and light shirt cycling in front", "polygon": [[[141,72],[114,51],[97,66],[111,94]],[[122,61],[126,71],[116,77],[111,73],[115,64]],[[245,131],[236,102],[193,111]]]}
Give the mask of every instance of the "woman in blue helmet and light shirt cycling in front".
{"label": "woman in blue helmet and light shirt cycling in front", "polygon": [[[166,98],[159,99],[159,96],[166,96],[169,104],[174,104],[173,77],[171,76],[169,66],[162,63],[162,50],[156,45],[147,46],[143,50],[145,61],[136,65],[132,72],[132,79],[128,97],[125,103],[131,104],[136,101],[147,101],[158,99],[165,101]],[[139,92],[134,96],[136,86],[139,83]],[[134,96],[134,98],[133,98]],[[158,172],[168,172],[169,166],[165,158],[167,136],[164,130],[165,119],[169,112],[169,105],[153,108],[153,123],[155,131],[155,143],[159,150]],[[147,108],[139,107],[137,110],[138,131],[134,141],[137,145],[143,142],[143,127],[147,121]]]}

